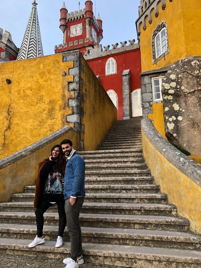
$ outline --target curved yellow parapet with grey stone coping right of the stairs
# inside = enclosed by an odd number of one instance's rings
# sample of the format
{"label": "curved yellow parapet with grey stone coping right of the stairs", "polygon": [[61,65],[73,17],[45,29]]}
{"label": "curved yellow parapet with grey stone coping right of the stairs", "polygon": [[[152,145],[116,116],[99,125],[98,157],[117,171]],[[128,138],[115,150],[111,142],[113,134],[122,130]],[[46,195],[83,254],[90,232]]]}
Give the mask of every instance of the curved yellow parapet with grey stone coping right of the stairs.
{"label": "curved yellow parapet with grey stone coping right of the stairs", "polygon": [[166,141],[151,120],[143,119],[142,148],[151,175],[161,192],[177,206],[178,215],[190,221],[190,229],[201,233],[201,166]]}

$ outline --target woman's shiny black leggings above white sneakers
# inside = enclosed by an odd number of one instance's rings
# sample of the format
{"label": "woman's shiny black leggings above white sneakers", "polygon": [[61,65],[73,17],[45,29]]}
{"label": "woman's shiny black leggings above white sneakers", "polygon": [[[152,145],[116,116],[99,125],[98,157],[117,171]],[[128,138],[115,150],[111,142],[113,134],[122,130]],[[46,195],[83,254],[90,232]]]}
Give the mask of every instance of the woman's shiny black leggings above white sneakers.
{"label": "woman's shiny black leggings above white sneakers", "polygon": [[[66,213],[64,210],[65,200],[61,202],[57,202],[58,213],[59,213],[59,232],[58,235],[63,237],[64,229],[66,227]],[[44,217],[43,214],[46,210],[51,207],[52,204],[50,202],[43,201],[39,207],[35,209],[36,216],[36,226],[37,226],[37,236],[43,236],[43,225],[44,225]]]}

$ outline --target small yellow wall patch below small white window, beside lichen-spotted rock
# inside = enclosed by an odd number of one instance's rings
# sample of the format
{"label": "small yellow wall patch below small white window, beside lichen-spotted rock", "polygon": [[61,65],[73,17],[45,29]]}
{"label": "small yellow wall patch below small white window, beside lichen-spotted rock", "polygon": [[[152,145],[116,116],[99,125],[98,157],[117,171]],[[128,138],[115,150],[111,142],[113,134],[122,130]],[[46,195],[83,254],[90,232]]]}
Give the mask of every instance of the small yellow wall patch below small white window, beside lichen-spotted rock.
{"label": "small yellow wall patch below small white window, beside lichen-spotted rock", "polygon": [[163,103],[152,104],[153,112],[148,114],[147,118],[153,121],[154,127],[167,140],[165,135],[164,119],[163,119]]}

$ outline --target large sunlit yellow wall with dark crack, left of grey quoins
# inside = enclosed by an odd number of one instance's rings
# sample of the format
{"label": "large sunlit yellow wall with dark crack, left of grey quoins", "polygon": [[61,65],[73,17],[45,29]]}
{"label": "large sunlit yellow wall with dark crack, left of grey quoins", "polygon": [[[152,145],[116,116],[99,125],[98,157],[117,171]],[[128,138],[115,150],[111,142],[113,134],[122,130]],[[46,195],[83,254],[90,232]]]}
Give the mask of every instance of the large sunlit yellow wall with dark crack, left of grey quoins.
{"label": "large sunlit yellow wall with dark crack, left of grey quoins", "polygon": [[62,56],[0,63],[0,159],[66,125],[66,115],[72,114],[68,98],[74,97],[68,91],[73,62],[63,63]]}

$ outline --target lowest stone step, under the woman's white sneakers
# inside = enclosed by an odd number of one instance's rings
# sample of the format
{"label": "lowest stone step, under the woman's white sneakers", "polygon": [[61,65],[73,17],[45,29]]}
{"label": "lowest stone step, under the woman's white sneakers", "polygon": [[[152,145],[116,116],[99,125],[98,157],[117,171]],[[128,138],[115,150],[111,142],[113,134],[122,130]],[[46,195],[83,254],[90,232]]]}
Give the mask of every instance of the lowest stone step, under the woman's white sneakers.
{"label": "lowest stone step, under the woman's white sneakers", "polygon": [[[0,248],[10,250],[24,250],[28,255],[35,255],[38,252],[51,252],[61,254],[70,254],[70,242],[64,242],[60,248],[55,248],[55,241],[45,241],[44,244],[38,245],[34,248],[28,248],[30,239],[12,239],[12,238],[0,238]],[[201,263],[201,253],[196,250],[180,250],[171,248],[155,248],[144,246],[127,246],[127,245],[110,245],[100,243],[82,243],[84,255],[94,255],[113,257],[113,258],[125,258],[125,259],[143,259],[150,261],[164,261],[164,262],[182,262],[182,263]],[[66,257],[68,257],[66,256]],[[64,258],[66,258],[64,257]],[[61,260],[62,262],[62,260]],[[127,266],[128,267],[128,266]]]}

